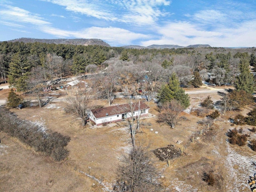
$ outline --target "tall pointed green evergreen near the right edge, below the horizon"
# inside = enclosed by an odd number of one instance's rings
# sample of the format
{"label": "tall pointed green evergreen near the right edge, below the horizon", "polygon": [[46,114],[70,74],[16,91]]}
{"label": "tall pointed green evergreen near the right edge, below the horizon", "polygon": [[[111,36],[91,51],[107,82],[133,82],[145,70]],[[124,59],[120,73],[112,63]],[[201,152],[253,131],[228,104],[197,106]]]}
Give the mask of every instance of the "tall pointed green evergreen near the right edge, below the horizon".
{"label": "tall pointed green evergreen near the right edge, below the horizon", "polygon": [[250,74],[249,62],[246,58],[240,59],[240,75],[236,77],[236,90],[244,90],[250,94],[255,91],[255,81],[253,74]]}

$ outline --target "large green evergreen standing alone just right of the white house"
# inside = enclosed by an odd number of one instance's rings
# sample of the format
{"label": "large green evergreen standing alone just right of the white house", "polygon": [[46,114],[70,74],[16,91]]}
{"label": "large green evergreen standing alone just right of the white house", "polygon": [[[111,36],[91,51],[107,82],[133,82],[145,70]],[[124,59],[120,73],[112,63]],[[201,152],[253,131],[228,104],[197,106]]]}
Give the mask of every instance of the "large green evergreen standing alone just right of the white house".
{"label": "large green evergreen standing alone just right of the white house", "polygon": [[180,87],[180,82],[175,73],[172,73],[168,84],[162,86],[160,92],[158,93],[158,97],[161,104],[176,99],[185,108],[190,105],[190,98],[188,94],[185,94],[185,91]]}

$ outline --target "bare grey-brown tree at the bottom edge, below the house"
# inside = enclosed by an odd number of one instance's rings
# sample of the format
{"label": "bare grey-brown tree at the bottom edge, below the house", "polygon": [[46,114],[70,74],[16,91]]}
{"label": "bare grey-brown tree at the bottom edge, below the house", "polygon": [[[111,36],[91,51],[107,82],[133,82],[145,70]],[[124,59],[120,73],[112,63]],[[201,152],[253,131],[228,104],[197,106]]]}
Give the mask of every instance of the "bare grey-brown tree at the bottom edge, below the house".
{"label": "bare grey-brown tree at the bottom edge, below the house", "polygon": [[121,160],[114,191],[158,192],[161,190],[161,184],[157,181],[158,172],[152,164],[147,148],[137,146]]}

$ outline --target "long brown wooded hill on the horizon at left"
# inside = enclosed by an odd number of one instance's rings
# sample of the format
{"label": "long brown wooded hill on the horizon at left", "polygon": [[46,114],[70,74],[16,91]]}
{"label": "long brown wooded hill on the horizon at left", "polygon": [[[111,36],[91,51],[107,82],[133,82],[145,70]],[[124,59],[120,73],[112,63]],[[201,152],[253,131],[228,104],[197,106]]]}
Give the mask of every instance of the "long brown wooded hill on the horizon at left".
{"label": "long brown wooded hill on the horizon at left", "polygon": [[35,38],[18,38],[7,42],[24,42],[24,43],[48,43],[48,44],[71,44],[71,45],[101,45],[110,47],[109,44],[101,39],[35,39]]}

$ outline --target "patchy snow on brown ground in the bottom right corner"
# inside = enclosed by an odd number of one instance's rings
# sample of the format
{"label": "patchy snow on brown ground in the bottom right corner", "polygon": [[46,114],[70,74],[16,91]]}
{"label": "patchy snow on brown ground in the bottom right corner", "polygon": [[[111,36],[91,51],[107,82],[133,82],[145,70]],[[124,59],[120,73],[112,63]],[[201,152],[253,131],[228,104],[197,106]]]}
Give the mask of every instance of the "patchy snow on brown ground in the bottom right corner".
{"label": "patchy snow on brown ground in the bottom right corner", "polygon": [[225,167],[228,170],[230,182],[226,185],[226,191],[251,191],[248,179],[256,172],[256,166],[252,165],[256,155],[251,157],[242,156],[230,148],[229,144],[227,144],[227,152]]}

